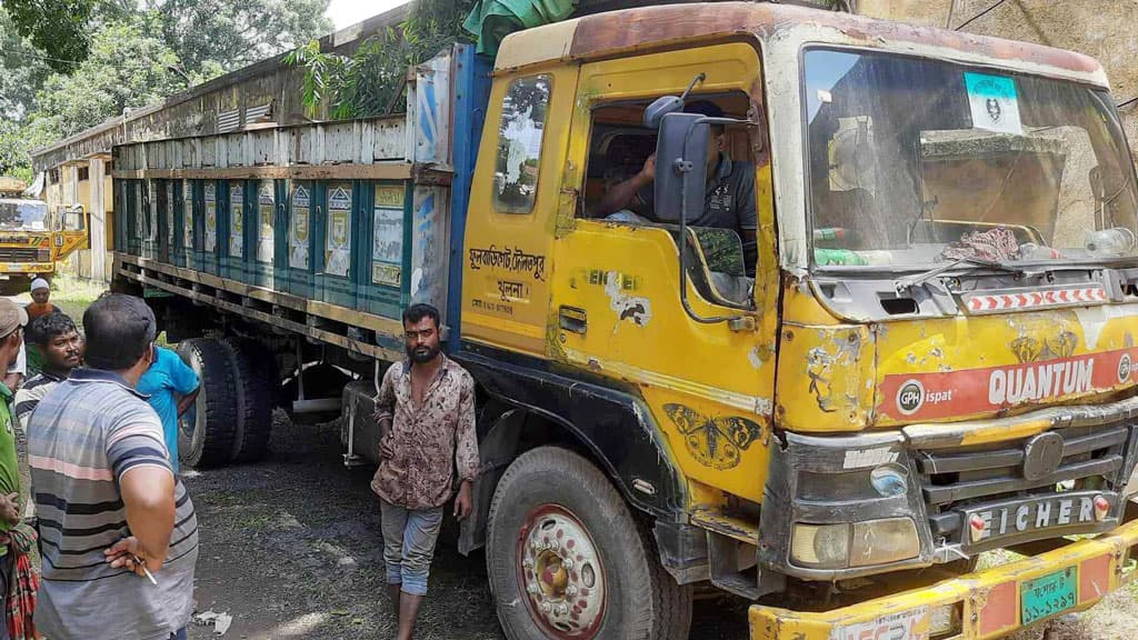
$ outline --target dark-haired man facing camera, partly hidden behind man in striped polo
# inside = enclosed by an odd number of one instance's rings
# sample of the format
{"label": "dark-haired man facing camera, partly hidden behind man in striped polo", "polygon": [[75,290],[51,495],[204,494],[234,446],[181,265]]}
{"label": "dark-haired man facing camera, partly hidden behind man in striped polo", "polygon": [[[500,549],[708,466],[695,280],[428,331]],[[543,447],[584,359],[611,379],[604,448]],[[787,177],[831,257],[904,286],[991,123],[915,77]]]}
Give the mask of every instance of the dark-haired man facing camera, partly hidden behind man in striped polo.
{"label": "dark-haired man facing camera, partly hidden behind man in striped polo", "polygon": [[35,512],[31,501],[32,477],[27,467],[27,420],[32,411],[56,388],[56,385],[71,376],[72,369],[83,361],[83,338],[75,328],[71,317],[63,313],[40,315],[27,327],[25,342],[31,342],[42,354],[43,367],[16,392],[16,419],[19,429],[16,440],[16,451],[19,457],[19,502],[24,516]]}

